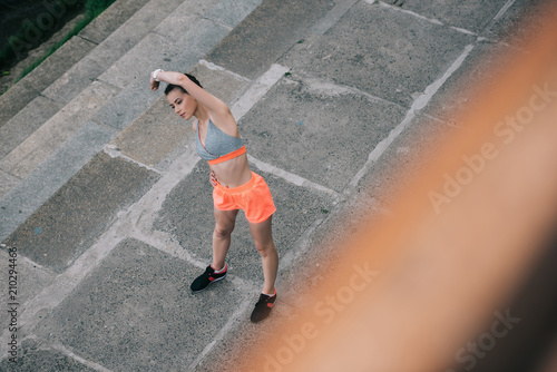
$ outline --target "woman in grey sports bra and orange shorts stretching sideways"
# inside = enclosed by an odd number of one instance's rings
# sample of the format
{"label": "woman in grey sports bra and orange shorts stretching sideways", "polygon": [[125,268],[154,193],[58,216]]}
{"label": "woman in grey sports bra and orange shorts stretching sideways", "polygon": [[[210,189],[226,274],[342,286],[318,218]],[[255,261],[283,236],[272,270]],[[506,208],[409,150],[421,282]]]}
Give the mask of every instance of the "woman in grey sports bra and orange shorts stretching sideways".
{"label": "woman in grey sports bra and orange shorts stretching sideways", "polygon": [[250,169],[244,140],[236,120],[221,99],[207,92],[188,74],[152,72],[150,88],[167,82],[166,99],[174,111],[185,120],[192,116],[196,131],[197,154],[208,161],[213,185],[215,229],[213,232],[213,263],[192,283],[194,293],[226,276],[226,253],[231,245],[236,215],[243,209],[255,248],[261,254],[265,278],[260,300],[252,312],[252,322],[261,322],[271,313],[276,301],[274,283],[278,270],[278,254],[273,242],[271,222],[276,211],[265,180]]}

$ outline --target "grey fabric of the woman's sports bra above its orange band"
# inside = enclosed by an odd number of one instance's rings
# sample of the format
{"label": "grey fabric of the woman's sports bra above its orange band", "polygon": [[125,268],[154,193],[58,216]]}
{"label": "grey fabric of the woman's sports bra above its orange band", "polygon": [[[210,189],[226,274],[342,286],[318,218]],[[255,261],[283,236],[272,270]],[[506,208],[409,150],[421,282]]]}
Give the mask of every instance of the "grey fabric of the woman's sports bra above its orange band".
{"label": "grey fabric of the woman's sports bra above its orange band", "polygon": [[199,157],[204,160],[214,160],[226,154],[233,153],[244,146],[244,139],[225,134],[209,118],[207,126],[207,136],[205,146],[199,138],[199,121],[197,121],[196,149]]}

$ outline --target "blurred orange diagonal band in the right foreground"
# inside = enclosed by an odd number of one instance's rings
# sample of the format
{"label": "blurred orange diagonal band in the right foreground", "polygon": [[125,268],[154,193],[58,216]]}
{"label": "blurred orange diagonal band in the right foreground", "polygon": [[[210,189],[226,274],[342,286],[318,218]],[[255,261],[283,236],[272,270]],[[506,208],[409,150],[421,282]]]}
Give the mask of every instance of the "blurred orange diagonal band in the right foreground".
{"label": "blurred orange diagonal band in the right foreground", "polygon": [[531,52],[476,87],[463,129],[397,196],[393,216],[339,247],[323,301],[250,356],[257,371],[465,370],[469,342],[492,349],[526,322],[506,303],[557,216],[556,8],[545,14]]}

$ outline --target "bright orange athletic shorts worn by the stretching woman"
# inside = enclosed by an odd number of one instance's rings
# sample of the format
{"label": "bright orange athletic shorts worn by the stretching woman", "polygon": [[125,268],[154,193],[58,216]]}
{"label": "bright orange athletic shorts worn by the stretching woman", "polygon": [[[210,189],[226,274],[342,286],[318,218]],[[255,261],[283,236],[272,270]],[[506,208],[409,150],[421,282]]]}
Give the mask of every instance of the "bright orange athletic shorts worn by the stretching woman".
{"label": "bright orange athletic shorts worn by the stretching woman", "polygon": [[213,203],[221,211],[242,209],[253,224],[264,222],[276,207],[265,179],[252,172],[252,179],[238,187],[213,186]]}

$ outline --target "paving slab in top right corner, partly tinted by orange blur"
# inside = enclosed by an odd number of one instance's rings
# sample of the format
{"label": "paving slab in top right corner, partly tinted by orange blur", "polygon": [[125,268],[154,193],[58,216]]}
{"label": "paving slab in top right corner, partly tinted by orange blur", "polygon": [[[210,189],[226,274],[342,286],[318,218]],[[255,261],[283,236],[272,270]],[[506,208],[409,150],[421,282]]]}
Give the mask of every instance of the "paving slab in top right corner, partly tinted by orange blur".
{"label": "paving slab in top right corner, partly tinted by orange blur", "polygon": [[544,7],[551,3],[551,0],[517,0],[481,36],[528,50],[528,38],[539,32]]}

